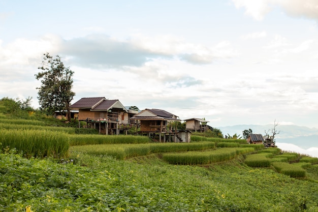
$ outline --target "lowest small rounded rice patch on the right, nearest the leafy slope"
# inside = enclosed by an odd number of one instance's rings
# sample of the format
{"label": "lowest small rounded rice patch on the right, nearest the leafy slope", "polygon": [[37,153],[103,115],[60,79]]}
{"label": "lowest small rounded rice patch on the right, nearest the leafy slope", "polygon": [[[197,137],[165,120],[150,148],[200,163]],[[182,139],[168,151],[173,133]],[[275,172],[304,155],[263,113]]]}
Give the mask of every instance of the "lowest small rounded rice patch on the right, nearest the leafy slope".
{"label": "lowest small rounded rice patch on the right, nearest the leafy slope", "polygon": [[300,166],[295,166],[289,163],[274,162],[272,165],[275,167],[277,172],[289,175],[294,178],[306,177],[306,170]]}

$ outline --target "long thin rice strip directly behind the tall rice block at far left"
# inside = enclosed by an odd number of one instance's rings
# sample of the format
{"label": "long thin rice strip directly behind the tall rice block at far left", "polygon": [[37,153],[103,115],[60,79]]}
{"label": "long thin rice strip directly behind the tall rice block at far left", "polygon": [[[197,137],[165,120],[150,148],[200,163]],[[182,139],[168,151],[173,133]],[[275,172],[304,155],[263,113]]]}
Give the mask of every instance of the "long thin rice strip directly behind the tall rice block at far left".
{"label": "long thin rice strip directly behind the tall rice block at far left", "polygon": [[75,134],[75,128],[71,127],[51,127],[51,126],[38,126],[38,125],[24,125],[24,124],[6,124],[0,123],[0,129],[6,130],[47,130],[56,132],[66,132]]}

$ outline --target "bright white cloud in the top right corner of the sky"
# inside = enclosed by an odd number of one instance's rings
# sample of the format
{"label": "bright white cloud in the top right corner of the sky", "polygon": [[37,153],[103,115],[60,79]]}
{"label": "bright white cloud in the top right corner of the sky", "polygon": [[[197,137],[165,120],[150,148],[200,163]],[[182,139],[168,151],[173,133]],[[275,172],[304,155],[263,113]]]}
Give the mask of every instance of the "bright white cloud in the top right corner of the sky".
{"label": "bright white cloud in the top right corner of the sky", "polygon": [[232,0],[236,8],[244,8],[245,14],[263,20],[273,8],[281,8],[287,15],[318,19],[316,0]]}

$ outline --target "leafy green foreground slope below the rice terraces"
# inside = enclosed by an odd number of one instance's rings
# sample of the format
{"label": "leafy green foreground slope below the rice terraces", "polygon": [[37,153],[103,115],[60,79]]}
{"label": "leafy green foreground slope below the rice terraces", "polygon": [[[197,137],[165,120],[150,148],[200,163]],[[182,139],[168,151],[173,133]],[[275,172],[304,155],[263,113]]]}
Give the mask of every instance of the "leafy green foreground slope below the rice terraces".
{"label": "leafy green foreground slope below the rice terraces", "polygon": [[242,157],[206,167],[170,165],[155,156],[118,161],[73,153],[71,158],[75,165],[1,155],[0,211],[14,211],[28,204],[34,211],[318,208],[317,183],[272,169],[249,168],[241,162]]}

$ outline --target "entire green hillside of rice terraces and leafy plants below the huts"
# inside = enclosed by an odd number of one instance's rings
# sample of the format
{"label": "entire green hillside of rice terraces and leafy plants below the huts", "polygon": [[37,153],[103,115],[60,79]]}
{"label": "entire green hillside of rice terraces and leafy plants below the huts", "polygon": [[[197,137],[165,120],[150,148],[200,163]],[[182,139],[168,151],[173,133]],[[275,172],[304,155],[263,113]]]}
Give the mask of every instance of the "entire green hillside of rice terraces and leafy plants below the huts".
{"label": "entire green hillside of rice terraces and leafy plants below the huts", "polygon": [[96,132],[3,103],[0,211],[317,211],[317,158],[208,134],[78,135]]}

